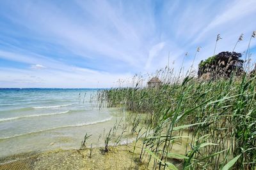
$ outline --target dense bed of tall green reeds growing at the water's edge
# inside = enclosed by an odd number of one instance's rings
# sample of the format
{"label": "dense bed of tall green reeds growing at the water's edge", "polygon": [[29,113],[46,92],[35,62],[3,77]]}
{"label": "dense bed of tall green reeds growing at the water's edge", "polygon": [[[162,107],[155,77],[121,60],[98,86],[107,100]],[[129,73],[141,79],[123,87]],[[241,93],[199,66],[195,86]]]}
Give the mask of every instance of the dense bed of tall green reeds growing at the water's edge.
{"label": "dense bed of tall green reeds growing at the water's edge", "polygon": [[[138,78],[143,80],[147,78]],[[141,162],[154,159],[156,169],[176,169],[170,162],[175,155],[182,169],[255,168],[255,77],[215,81],[186,77],[181,82],[166,80],[159,88],[132,84],[136,87],[104,90],[99,96],[108,107],[123,106],[132,112],[131,133],[145,127],[145,138],[138,133],[143,139]],[[138,113],[146,117],[141,119]],[[186,141],[183,155],[172,152],[180,141]]]}

